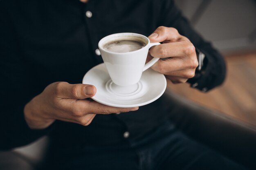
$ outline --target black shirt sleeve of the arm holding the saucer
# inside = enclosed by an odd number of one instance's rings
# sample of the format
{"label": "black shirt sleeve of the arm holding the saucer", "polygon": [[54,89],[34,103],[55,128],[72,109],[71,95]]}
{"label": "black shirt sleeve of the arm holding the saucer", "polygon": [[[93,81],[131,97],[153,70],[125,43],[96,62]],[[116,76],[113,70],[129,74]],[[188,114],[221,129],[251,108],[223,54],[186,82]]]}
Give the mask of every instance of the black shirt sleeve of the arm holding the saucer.
{"label": "black shirt sleeve of the arm holding the saucer", "polygon": [[0,150],[29,144],[50,129],[31,130],[25,121],[24,106],[35,96],[33,77],[4,2],[0,1]]}

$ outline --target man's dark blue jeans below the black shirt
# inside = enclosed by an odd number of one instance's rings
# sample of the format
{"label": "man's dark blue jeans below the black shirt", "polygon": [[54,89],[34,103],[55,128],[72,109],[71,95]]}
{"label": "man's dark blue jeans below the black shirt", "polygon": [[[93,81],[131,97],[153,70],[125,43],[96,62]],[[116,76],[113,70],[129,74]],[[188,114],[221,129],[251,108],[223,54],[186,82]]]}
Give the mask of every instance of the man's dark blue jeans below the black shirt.
{"label": "man's dark blue jeans below the black shirt", "polygon": [[85,147],[61,166],[66,170],[245,170],[186,137],[169,121],[129,146]]}

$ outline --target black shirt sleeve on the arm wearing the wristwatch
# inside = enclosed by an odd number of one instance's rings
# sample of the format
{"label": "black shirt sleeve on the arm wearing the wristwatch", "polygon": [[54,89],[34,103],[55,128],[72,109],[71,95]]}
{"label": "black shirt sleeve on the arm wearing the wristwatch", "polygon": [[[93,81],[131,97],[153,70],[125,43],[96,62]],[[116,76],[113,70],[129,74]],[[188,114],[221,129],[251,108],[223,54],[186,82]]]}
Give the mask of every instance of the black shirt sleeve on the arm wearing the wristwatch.
{"label": "black shirt sleeve on the arm wearing the wristwatch", "polygon": [[209,91],[219,86],[225,79],[226,65],[222,55],[213,48],[191,26],[189,21],[182,15],[173,0],[164,0],[159,26],[169,26],[176,28],[181,35],[189,38],[196,49],[204,53],[204,67],[200,73],[188,80],[192,87],[201,91]]}

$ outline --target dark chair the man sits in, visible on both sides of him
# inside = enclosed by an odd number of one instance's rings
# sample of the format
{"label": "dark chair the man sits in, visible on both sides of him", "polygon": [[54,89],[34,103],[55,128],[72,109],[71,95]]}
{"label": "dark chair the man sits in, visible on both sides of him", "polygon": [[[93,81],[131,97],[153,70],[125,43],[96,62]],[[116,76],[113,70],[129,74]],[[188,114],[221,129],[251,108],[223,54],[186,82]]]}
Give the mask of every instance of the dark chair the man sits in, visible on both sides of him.
{"label": "dark chair the man sits in, visible on both sides of him", "polygon": [[[256,169],[256,127],[210,110],[171,91],[164,97],[170,120],[188,136],[245,167]],[[175,107],[172,107],[175,106]],[[47,137],[29,146],[0,152],[0,170],[36,170],[47,150]]]}

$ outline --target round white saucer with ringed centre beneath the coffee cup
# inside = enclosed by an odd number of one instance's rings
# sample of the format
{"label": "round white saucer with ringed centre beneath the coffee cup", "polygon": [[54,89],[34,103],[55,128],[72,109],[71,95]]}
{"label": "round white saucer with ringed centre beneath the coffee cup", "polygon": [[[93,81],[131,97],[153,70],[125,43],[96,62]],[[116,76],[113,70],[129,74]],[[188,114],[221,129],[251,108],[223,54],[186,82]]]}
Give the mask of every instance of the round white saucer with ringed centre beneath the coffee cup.
{"label": "round white saucer with ringed centre beneath the coffee cup", "polygon": [[83,84],[97,88],[93,100],[108,106],[128,108],[154,102],[166,89],[164,75],[148,69],[142,73],[140,81],[132,86],[117,86],[108,75],[104,63],[90,69],[83,77]]}

